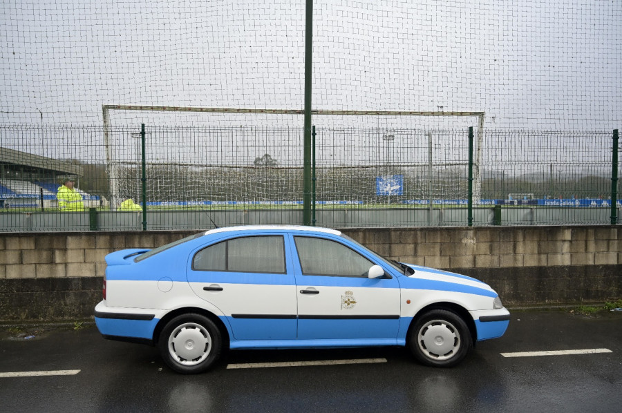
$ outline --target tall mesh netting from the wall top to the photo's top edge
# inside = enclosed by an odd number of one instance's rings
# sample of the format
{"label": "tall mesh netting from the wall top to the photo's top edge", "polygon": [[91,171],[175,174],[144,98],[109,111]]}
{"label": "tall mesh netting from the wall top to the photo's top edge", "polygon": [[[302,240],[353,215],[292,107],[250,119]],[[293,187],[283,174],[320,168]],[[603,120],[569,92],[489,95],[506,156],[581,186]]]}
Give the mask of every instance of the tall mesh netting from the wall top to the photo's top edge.
{"label": "tall mesh netting from the wall top to the photo's top edge", "polygon": [[305,3],[3,1],[0,229],[302,222],[308,59],[317,224],[610,222],[621,2]]}

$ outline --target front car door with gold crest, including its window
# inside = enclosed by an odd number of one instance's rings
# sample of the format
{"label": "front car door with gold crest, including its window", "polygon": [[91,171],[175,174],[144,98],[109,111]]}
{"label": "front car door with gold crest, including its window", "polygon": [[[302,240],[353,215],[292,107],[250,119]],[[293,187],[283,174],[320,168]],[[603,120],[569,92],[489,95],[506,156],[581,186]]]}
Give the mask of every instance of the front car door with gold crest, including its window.
{"label": "front car door with gold crest, including its window", "polygon": [[370,279],[373,256],[339,237],[290,238],[296,293],[298,338],[395,339],[399,328],[397,278]]}

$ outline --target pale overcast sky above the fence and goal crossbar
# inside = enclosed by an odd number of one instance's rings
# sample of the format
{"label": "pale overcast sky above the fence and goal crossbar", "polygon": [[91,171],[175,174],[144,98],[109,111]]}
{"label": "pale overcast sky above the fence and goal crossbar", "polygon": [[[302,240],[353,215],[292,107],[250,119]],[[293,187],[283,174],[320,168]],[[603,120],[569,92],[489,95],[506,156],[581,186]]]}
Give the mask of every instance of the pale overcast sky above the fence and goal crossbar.
{"label": "pale overcast sky above the fence and goal crossbar", "polygon": [[[619,0],[314,3],[314,109],[484,111],[487,128],[622,126]],[[0,7],[1,124],[101,124],[102,104],[303,108],[304,1]]]}

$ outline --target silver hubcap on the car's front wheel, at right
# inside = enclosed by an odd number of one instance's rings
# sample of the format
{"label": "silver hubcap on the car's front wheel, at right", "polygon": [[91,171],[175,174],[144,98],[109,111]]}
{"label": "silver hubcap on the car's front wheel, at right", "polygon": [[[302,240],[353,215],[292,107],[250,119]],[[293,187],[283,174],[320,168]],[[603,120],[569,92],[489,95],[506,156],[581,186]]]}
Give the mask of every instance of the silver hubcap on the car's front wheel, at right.
{"label": "silver hubcap on the car's front wheel, at right", "polygon": [[460,349],[460,334],[446,320],[432,320],[419,330],[417,342],[419,348],[433,360],[447,360],[455,356]]}

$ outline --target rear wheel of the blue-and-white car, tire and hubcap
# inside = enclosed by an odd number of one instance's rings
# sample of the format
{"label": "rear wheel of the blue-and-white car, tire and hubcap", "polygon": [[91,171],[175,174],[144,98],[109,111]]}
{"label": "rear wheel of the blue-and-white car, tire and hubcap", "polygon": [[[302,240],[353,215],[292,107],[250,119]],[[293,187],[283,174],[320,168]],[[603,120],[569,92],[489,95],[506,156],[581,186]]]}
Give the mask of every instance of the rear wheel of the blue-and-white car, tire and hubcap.
{"label": "rear wheel of the blue-and-white car, tire and hubcap", "polygon": [[218,361],[223,338],[209,318],[182,314],[162,329],[158,347],[164,363],[171,369],[182,374],[198,374]]}

